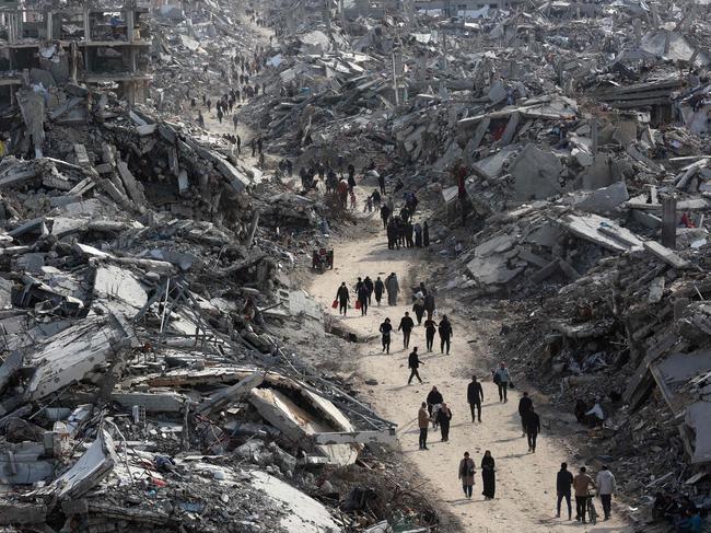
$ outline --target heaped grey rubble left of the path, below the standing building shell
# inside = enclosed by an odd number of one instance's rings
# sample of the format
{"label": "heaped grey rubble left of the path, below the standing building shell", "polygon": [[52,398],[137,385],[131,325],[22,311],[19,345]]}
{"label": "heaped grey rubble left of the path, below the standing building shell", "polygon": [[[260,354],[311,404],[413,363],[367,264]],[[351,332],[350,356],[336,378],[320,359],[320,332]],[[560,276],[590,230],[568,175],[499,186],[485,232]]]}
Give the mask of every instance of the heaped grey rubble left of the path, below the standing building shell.
{"label": "heaped grey rubble left of the path, below the standing building shell", "polygon": [[3,531],[438,523],[382,459],[394,425],[292,348],[325,337],[291,277],[329,207],[183,116],[186,86],[231,86],[220,54],[260,54],[221,8],[143,19],[144,104],[25,80],[3,109]]}

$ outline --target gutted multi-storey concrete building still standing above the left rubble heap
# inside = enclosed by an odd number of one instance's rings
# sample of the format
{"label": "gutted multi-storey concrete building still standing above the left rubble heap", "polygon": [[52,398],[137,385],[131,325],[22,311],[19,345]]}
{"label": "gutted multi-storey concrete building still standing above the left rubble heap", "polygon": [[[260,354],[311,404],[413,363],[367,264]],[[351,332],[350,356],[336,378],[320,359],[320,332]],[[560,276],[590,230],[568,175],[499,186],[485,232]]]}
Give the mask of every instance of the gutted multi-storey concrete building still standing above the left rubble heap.
{"label": "gutted multi-storey concrete building still standing above the left rubble heap", "polygon": [[0,0],[0,106],[22,84],[114,84],[142,102],[150,81],[148,9],[135,2],[68,3]]}

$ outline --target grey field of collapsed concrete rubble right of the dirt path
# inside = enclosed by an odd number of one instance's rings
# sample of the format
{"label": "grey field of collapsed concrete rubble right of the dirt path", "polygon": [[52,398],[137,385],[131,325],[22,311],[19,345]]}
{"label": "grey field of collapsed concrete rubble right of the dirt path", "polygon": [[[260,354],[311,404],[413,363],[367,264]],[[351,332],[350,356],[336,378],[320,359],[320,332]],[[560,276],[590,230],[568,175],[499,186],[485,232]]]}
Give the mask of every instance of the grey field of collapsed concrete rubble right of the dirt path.
{"label": "grey field of collapsed concrete rubble right of the dirt path", "polygon": [[438,290],[506,316],[497,352],[561,408],[603,402],[585,457],[634,509],[708,508],[706,2],[271,14],[289,48],[254,124],[300,164],[374,161],[417,193]]}

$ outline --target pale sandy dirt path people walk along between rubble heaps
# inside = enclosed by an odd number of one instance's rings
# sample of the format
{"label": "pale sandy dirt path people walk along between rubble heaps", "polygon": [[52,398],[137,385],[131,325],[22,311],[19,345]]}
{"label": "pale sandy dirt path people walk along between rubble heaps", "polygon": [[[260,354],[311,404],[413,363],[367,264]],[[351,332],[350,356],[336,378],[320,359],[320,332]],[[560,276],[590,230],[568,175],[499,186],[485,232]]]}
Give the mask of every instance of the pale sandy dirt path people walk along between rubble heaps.
{"label": "pale sandy dirt path people walk along between rubble heaps", "polygon": [[[398,274],[400,288],[406,289],[420,281],[411,279],[409,273],[417,271],[422,259],[418,251],[389,251],[378,220],[363,219],[362,237],[337,243],[335,246],[335,268],[323,275],[316,275],[311,292],[330,309],[336,289],[341,281],[352,287],[357,278],[381,276],[385,279],[389,273]],[[389,316],[397,326],[405,311],[411,311],[409,289],[400,293],[396,308],[387,305],[369,309],[368,316],[361,317],[360,311],[349,310],[345,318],[348,325],[363,335],[377,335],[381,322]],[[386,300],[385,300],[386,302]],[[354,301],[353,301],[354,303]],[[373,303],[375,300],[373,299]],[[433,498],[439,497],[444,510],[457,517],[459,524],[451,524],[445,531],[466,532],[504,532],[504,531],[591,531],[623,532],[620,522],[610,520],[596,526],[583,528],[573,522],[553,518],[556,493],[556,473],[562,461],[575,465],[567,444],[546,431],[544,398],[536,397],[536,405],[541,415],[543,433],[538,439],[535,454],[527,453],[526,439],[521,436],[517,414],[520,386],[509,394],[509,403],[498,401],[496,385],[483,356],[487,339],[496,327],[487,321],[462,323],[455,309],[445,302],[438,302],[440,316],[446,314],[453,322],[454,337],[450,356],[424,352],[423,327],[412,332],[410,348],[419,347],[424,366],[420,368],[423,385],[407,385],[409,371],[407,356],[410,350],[403,349],[401,335],[394,332],[389,356],[381,352],[380,335],[376,340],[357,345],[359,369],[363,379],[361,391],[378,412],[387,419],[398,424],[398,438],[401,452],[427,482],[421,488]],[[439,338],[435,338],[438,348]],[[473,425],[466,403],[466,387],[475,370],[483,382],[485,402],[481,425]],[[374,379],[377,385],[366,385],[364,380]],[[436,385],[453,412],[450,442],[440,442],[439,432],[430,430],[429,451],[418,450],[417,412],[428,392]],[[497,461],[497,497],[485,501],[481,496],[481,476],[479,463],[485,450],[491,450]],[[474,455],[477,463],[475,494],[471,500],[463,498],[462,487],[457,480],[457,466],[465,451]],[[576,473],[576,468],[574,471]],[[599,502],[598,511],[602,512]],[[574,513],[573,502],[573,513]],[[566,511],[563,511],[566,515]]]}

